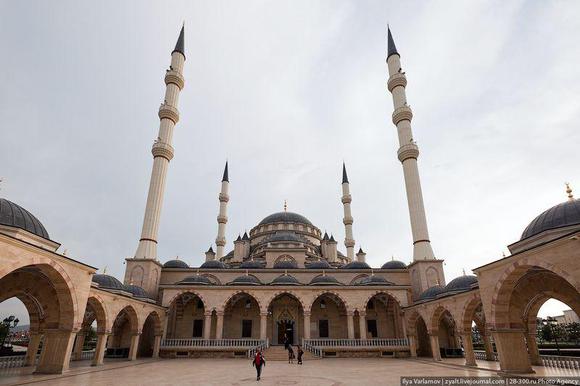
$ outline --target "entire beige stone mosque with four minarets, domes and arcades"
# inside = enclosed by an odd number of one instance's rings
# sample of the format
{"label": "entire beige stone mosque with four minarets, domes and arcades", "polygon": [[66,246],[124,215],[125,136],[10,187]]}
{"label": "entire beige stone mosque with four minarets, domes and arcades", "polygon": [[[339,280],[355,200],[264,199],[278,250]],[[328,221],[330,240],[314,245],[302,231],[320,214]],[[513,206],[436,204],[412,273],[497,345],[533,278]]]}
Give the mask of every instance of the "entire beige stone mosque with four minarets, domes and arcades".
{"label": "entire beige stone mosque with four minarets, domes and arcades", "polygon": [[286,209],[266,215],[232,247],[225,238],[227,163],[218,196],[216,250],[210,248],[199,267],[160,260],[157,235],[185,60],[182,28],[164,75],[142,232],[134,256],[126,259],[123,281],[59,252],[60,244],[33,214],[0,199],[0,302],[16,297],[30,315],[24,365],[35,366],[37,373],[62,373],[81,358],[93,326],[94,366],[115,357],[246,356],[257,348],[275,349],[284,336],[318,357],[440,361],[464,356],[466,365],[476,366],[475,324],[487,360],[498,359],[505,372],[527,373],[541,364],[535,339],[541,305],[555,298],[580,315],[580,201],[569,188],[566,201],[539,214],[508,246],[509,256],[474,268],[476,276],[446,280],[443,260],[436,258],[429,238],[407,78],[390,30],[387,86],[409,207],[412,262],[370,267],[365,252],[355,251],[345,165],[344,249],[308,218]]}

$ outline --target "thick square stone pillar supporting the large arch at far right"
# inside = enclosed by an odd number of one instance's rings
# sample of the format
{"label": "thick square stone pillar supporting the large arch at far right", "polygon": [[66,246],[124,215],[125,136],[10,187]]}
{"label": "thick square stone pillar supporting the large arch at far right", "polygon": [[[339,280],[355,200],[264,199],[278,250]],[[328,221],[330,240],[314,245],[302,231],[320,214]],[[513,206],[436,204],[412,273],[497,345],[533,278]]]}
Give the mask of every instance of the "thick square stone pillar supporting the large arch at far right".
{"label": "thick square stone pillar supporting the large arch at far right", "polygon": [[524,330],[496,329],[493,339],[497,347],[500,369],[505,373],[533,373]]}

